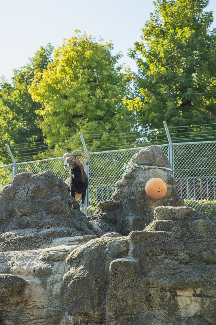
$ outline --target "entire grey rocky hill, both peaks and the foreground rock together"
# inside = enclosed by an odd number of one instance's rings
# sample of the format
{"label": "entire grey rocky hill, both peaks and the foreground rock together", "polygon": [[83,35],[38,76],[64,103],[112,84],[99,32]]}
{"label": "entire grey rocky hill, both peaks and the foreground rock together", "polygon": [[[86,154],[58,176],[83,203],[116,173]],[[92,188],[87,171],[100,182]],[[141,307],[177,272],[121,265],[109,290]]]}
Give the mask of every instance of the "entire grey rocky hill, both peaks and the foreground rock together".
{"label": "entire grey rocky hill, both peaks and the foreground rock together", "polygon": [[[154,146],[131,161],[170,166]],[[0,324],[216,324],[216,225],[181,206],[170,171],[148,173],[163,199],[135,168],[90,221],[49,171],[2,189]]]}

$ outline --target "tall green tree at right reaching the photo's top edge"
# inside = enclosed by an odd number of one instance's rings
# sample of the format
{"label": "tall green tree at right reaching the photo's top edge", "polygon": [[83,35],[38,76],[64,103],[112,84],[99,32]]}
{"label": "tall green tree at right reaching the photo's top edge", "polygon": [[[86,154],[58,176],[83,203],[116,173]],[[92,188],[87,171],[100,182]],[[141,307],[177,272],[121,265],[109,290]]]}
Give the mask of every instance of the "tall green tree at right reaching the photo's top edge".
{"label": "tall green tree at right reaching the photo's top edge", "polygon": [[156,0],[130,56],[138,66],[125,100],[138,125],[160,128],[215,122],[216,30],[208,0]]}

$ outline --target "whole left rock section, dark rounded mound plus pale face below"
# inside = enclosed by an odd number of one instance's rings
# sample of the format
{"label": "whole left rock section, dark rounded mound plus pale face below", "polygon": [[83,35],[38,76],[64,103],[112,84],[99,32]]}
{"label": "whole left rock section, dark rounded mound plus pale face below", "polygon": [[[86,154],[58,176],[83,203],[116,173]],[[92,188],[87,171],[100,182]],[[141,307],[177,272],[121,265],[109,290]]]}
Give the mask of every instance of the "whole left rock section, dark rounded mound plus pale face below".
{"label": "whole left rock section, dark rounded mound plus pale face below", "polygon": [[60,178],[17,174],[0,192],[0,324],[60,324],[65,259],[94,238]]}

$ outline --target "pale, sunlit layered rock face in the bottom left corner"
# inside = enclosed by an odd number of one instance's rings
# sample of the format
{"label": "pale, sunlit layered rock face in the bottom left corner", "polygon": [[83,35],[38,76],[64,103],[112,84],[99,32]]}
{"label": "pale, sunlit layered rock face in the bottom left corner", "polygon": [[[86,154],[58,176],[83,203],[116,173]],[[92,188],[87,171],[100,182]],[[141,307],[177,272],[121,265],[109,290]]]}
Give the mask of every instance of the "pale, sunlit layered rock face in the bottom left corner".
{"label": "pale, sunlit layered rock face in the bottom left corner", "polygon": [[92,238],[61,238],[55,247],[0,252],[0,324],[60,324],[66,314],[61,294],[65,259]]}

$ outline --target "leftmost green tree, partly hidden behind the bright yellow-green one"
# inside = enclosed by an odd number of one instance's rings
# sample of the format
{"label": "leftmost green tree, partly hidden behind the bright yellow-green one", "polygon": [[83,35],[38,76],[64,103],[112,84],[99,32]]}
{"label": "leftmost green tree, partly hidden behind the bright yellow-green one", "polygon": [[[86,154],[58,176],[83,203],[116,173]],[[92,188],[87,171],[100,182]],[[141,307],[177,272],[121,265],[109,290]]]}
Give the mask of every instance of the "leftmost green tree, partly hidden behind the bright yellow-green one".
{"label": "leftmost green tree, partly hidden behind the bright yellow-green one", "polygon": [[32,100],[28,87],[34,74],[39,78],[39,74],[46,69],[51,61],[52,51],[53,47],[50,44],[46,47],[41,46],[24,67],[14,70],[12,83],[4,77],[1,79],[0,147],[4,147],[6,143],[13,145],[43,140],[39,127],[40,120],[35,112],[40,109],[40,103]]}

